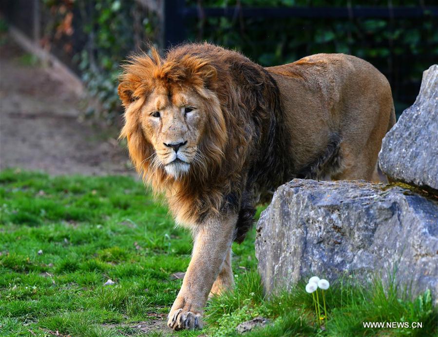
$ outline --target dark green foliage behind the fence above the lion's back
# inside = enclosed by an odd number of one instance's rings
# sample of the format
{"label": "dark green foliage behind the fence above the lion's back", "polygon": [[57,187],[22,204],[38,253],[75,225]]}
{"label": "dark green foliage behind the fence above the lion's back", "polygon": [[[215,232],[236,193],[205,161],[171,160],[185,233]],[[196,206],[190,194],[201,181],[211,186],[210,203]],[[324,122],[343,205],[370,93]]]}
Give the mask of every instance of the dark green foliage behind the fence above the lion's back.
{"label": "dark green foliage behind the fence above the lion's back", "polygon": [[[347,6],[344,0],[205,0],[202,6]],[[186,1],[196,6],[197,1]],[[388,2],[359,0],[352,6]],[[394,0],[392,6],[419,6]],[[425,1],[424,5],[434,5]],[[371,62],[390,81],[398,115],[415,100],[422,72],[438,59],[438,20],[425,12],[408,19],[209,18],[187,22],[189,40],[208,40],[241,51],[263,66],[289,63],[311,54],[345,53]]]}

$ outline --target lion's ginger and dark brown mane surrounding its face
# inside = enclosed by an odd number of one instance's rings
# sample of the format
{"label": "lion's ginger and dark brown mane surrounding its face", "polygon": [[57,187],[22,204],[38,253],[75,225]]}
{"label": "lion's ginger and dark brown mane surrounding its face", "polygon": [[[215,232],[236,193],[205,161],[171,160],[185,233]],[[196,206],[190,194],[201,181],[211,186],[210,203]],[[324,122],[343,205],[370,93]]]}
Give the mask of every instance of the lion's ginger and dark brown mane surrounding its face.
{"label": "lion's ginger and dark brown mane surrounding its face", "polygon": [[[242,241],[253,221],[254,198],[289,175],[282,153],[286,126],[277,85],[267,71],[239,53],[211,44],[185,44],[161,58],[133,56],[118,87],[126,108],[120,137],[126,138],[133,164],[155,192],[165,192],[181,223],[202,223],[213,214],[239,211],[235,239]],[[199,151],[203,165],[193,165],[175,179],[152,165],[154,149],[143,135],[140,109],[157,85],[191,86],[209,107]]]}

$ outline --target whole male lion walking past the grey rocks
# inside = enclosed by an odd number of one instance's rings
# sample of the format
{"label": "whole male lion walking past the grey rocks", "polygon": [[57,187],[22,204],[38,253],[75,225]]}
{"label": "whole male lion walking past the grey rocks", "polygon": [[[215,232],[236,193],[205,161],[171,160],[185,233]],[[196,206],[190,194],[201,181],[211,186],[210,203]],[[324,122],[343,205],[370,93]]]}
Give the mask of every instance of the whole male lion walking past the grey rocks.
{"label": "whole male lion walking past the grey rocks", "polygon": [[255,207],[293,178],[379,180],[395,123],[387,79],[370,63],[317,54],[263,68],[208,43],[155,49],[123,65],[118,94],[137,171],[193,234],[169,313],[174,330],[202,328],[209,295],[233,287],[231,244]]}

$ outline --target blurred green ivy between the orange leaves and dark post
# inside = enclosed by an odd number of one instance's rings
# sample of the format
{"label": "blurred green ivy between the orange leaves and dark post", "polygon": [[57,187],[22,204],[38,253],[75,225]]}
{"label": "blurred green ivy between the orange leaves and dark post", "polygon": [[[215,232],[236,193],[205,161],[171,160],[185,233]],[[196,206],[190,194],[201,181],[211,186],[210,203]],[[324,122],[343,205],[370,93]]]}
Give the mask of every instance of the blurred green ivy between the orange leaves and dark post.
{"label": "blurred green ivy between the orange leaves and dark post", "polygon": [[[76,60],[90,97],[96,99],[94,108],[87,113],[99,112],[111,120],[120,112],[117,96],[120,63],[133,50],[143,47],[146,40],[155,38],[153,17],[145,14],[135,1],[79,0],[75,5],[88,37],[86,48],[76,55]],[[137,14],[143,17],[134,22]]]}

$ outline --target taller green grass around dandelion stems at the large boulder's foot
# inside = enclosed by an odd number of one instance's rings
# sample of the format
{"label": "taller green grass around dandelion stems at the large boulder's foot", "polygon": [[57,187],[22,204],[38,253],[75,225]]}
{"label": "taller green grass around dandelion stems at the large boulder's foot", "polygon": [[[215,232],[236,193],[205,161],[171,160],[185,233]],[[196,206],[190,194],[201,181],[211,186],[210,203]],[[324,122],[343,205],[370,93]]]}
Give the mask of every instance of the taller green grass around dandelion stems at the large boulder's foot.
{"label": "taller green grass around dandelion stems at the large boulder's foot", "polygon": [[[315,310],[311,294],[305,292],[300,282],[290,291],[264,297],[260,278],[255,273],[244,274],[237,280],[234,293],[215,297],[207,309],[209,322],[207,334],[214,336],[238,336],[235,327],[253,317],[271,319],[264,329],[248,336],[435,336],[438,328],[437,309],[432,304],[430,291],[408,299],[394,284],[384,287],[381,280],[363,286],[354,278],[334,282],[325,291],[328,320],[324,330],[315,322]],[[364,328],[363,322],[421,322],[422,328]]]}

